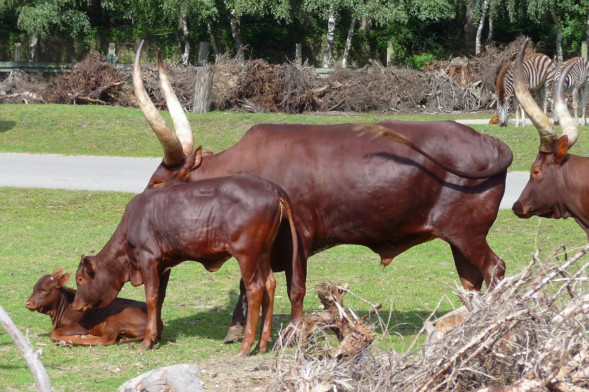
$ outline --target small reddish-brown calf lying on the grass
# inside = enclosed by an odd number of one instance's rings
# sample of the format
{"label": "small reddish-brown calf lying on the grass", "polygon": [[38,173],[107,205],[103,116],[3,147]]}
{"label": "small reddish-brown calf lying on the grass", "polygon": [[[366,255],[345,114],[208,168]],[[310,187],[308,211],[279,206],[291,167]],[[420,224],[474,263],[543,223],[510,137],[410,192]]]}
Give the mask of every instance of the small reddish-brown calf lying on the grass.
{"label": "small reddish-brown calf lying on the grass", "polygon": [[108,346],[145,339],[147,306],[144,302],[115,299],[110,306],[83,313],[72,308],[75,290],[65,287],[70,274],[55,270],[38,280],[25,306],[51,317],[49,339],[74,346]]}

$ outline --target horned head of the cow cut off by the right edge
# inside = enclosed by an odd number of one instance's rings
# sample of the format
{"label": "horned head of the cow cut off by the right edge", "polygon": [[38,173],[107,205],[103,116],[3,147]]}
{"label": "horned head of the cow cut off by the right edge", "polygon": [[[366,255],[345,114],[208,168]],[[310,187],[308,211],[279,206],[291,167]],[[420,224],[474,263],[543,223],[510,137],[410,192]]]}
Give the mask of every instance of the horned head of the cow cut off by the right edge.
{"label": "horned head of the cow cut off by the right edge", "polygon": [[540,134],[540,151],[530,169],[530,180],[512,210],[521,218],[537,215],[558,219],[567,217],[563,167],[568,162],[568,150],[579,135],[577,123],[564,100],[564,81],[572,65],[564,69],[554,89],[554,109],[562,126],[562,136],[557,138],[554,125],[535,104],[525,85],[522,71],[525,43],[514,64],[515,95]]}

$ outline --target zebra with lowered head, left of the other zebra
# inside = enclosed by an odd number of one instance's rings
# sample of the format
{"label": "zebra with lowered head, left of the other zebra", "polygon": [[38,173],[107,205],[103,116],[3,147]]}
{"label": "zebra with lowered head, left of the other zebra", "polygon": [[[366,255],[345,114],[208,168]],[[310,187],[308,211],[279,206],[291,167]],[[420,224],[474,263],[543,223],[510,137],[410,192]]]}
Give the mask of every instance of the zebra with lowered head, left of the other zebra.
{"label": "zebra with lowered head, left of the other zebra", "polygon": [[[521,109],[522,126],[525,128],[525,112],[519,107],[519,102],[514,95],[514,66],[512,62],[506,63],[497,76],[497,96],[499,112],[499,125],[507,126],[509,118],[509,98],[513,95],[515,106],[515,128],[519,127],[519,110]],[[554,79],[556,67],[547,55],[532,53],[524,57],[524,77],[530,91],[534,91],[542,106],[544,113],[548,107],[548,96]]]}

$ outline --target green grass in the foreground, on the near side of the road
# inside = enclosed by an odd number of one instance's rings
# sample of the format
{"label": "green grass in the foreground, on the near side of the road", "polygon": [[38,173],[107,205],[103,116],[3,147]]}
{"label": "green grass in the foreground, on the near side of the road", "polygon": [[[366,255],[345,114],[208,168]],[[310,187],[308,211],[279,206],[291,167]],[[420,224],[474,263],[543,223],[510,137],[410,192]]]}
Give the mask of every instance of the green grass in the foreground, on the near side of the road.
{"label": "green grass in the foreground, on the near side of the road", "polygon": [[[200,363],[237,351],[237,344],[223,344],[239,290],[235,260],[216,273],[207,273],[194,262],[173,269],[163,308],[163,341],[157,349],[145,353],[136,351],[138,344],[57,347],[49,341],[49,317],[25,309],[24,303],[39,277],[60,267],[75,272],[81,253],[101,249],[131,197],[114,192],[0,190],[0,304],[23,332],[28,329],[35,349],[44,350],[41,359],[55,390],[112,391],[151,368]],[[508,274],[527,264],[537,246],[550,251],[565,243],[573,253],[574,248],[587,243],[587,236],[573,220],[522,220],[508,210],[499,212],[488,239],[506,260]],[[284,274],[276,277],[274,334],[288,322],[290,311]],[[380,266],[376,254],[360,246],[338,246],[311,257],[306,310],[320,307],[313,286],[324,279],[348,283],[353,293],[372,303],[382,303],[385,318],[392,306],[391,325],[397,325],[394,330],[398,334],[383,337],[381,345],[397,350],[409,346],[422,320],[444,294],[454,299],[452,290],[459,284],[449,246],[441,240],[408,250],[386,268]],[[68,286],[75,287],[73,282]],[[121,296],[144,300],[143,290],[143,286],[127,284]],[[348,301],[361,314],[369,310],[365,303],[350,296]],[[439,314],[451,309],[445,301]],[[272,353],[266,356],[270,358]],[[25,391],[33,384],[8,334],[0,331],[0,390]]]}

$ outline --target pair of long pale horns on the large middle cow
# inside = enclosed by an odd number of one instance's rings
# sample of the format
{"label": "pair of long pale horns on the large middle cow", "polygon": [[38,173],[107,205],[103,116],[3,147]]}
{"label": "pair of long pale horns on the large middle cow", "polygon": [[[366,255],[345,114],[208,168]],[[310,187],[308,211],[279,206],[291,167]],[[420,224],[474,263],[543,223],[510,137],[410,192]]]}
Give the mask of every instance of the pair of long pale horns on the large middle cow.
{"label": "pair of long pale horns on the large middle cow", "polygon": [[151,102],[147,92],[145,92],[143,79],[141,79],[141,51],[143,50],[144,42],[141,41],[133,63],[133,89],[135,91],[135,97],[137,98],[141,112],[143,112],[145,119],[147,119],[155,136],[157,136],[161,146],[164,148],[164,163],[169,166],[176,166],[182,162],[184,156],[188,156],[192,152],[194,148],[194,136],[186,113],[184,113],[180,101],[178,101],[176,94],[172,90],[159,51],[157,53],[157,61],[158,71],[160,71],[160,88],[166,99],[168,110],[170,110],[170,116],[174,123],[176,133],[170,129],[166,120],[160,115],[160,112],[158,112],[153,102]]}

